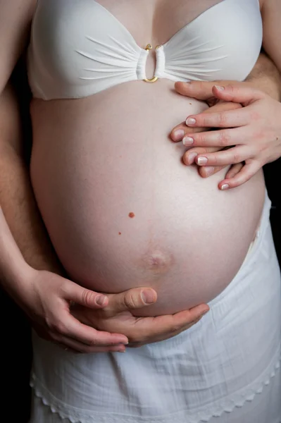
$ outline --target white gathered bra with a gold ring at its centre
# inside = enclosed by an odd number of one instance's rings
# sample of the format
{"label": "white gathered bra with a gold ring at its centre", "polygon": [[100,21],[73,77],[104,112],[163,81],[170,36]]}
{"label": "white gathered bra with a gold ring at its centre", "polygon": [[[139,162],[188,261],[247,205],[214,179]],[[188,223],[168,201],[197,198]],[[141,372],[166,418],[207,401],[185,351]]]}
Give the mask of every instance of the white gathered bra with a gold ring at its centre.
{"label": "white gathered bra with a gold ring at its centre", "polygon": [[[222,0],[156,49],[154,80],[244,80],[258,59],[258,0]],[[34,97],[88,97],[146,79],[149,47],[94,0],[39,0],[27,68]]]}

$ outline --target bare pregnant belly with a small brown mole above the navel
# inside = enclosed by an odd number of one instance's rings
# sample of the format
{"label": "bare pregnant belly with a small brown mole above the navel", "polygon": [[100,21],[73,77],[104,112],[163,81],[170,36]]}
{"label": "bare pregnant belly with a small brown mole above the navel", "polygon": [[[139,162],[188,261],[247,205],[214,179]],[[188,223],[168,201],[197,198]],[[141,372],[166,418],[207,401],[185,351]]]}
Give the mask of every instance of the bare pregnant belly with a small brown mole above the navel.
{"label": "bare pregnant belly with a small brown mole above the navel", "polygon": [[182,164],[168,133],[206,106],[161,83],[32,105],[32,183],[58,257],[94,290],[155,288],[157,304],[141,314],[216,297],[244,260],[264,197],[262,173],[220,192],[222,172],[202,179]]}

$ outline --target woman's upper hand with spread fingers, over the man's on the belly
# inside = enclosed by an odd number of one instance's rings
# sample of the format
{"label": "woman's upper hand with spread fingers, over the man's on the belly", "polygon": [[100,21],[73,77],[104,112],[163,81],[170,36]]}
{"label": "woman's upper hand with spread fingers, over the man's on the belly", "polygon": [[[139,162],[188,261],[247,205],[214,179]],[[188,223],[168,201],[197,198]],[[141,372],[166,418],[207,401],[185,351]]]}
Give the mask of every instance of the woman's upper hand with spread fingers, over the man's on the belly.
{"label": "woman's upper hand with spread fingers, over the man's on the belly", "polygon": [[[211,87],[208,92],[207,85]],[[204,86],[204,93],[202,93]],[[186,137],[189,145],[220,147],[223,151],[198,154],[199,166],[227,166],[244,162],[235,176],[228,174],[219,184],[220,189],[235,188],[249,180],[263,165],[281,156],[281,104],[270,96],[254,89],[247,82],[213,85],[213,82],[176,84],[177,91],[184,88],[185,95],[205,99],[223,100],[242,104],[242,109],[188,116]],[[208,96],[208,97],[207,97]],[[220,128],[194,133],[194,128]]]}

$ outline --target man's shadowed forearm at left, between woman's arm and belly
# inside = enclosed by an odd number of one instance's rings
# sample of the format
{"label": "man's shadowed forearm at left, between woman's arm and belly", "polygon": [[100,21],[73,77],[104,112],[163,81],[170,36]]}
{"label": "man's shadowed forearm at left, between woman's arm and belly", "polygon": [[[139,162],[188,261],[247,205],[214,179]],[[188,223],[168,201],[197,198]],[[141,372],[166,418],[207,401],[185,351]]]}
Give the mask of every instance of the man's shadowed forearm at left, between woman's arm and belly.
{"label": "man's shadowed forearm at left, between woman's arm and belly", "polygon": [[61,272],[37,209],[21,137],[18,104],[8,87],[0,100],[0,206],[25,261],[35,269]]}

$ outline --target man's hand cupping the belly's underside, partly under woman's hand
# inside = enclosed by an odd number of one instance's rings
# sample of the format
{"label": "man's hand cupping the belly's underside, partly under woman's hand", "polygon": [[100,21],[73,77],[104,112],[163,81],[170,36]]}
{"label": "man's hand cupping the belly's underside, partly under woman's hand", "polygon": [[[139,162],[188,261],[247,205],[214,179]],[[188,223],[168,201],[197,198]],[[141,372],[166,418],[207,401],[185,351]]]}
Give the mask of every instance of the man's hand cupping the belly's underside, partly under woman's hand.
{"label": "man's hand cupping the belly's underside, partly under woman's hand", "polygon": [[[91,310],[75,305],[71,311],[84,324],[93,326],[99,331],[124,333],[129,340],[129,347],[139,347],[172,338],[196,324],[209,310],[208,305],[201,304],[166,316],[135,317],[134,309],[144,307],[142,297],[139,295],[142,289],[144,288],[107,295],[108,306],[103,309]],[[93,348],[89,346],[81,352],[92,353]]]}

